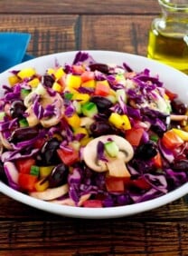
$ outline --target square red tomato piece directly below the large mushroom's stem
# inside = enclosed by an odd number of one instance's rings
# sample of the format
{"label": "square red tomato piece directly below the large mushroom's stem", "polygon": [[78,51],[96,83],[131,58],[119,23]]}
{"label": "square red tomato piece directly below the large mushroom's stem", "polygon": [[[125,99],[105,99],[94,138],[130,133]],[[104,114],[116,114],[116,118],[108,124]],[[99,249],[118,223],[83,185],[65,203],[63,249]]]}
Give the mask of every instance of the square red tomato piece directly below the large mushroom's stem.
{"label": "square red tomato piece directly below the large mushroom's stem", "polygon": [[106,178],[106,187],[108,192],[124,192],[125,191],[124,182],[125,181],[123,178],[108,176]]}

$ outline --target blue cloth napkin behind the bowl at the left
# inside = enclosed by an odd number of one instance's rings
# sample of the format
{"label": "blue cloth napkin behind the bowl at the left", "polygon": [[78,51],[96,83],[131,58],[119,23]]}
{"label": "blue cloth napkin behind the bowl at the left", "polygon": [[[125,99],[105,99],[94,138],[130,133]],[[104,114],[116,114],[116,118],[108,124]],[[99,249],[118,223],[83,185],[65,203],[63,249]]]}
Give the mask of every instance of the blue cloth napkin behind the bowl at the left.
{"label": "blue cloth napkin behind the bowl at the left", "polygon": [[16,32],[0,33],[0,73],[33,58],[26,54],[31,34]]}

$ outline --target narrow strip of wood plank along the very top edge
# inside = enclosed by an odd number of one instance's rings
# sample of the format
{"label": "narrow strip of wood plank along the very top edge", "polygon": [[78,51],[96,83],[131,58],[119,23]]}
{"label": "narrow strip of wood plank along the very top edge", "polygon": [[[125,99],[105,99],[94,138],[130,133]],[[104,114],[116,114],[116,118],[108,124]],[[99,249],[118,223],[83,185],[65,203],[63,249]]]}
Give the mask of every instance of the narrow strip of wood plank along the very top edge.
{"label": "narrow strip of wood plank along the very top edge", "polygon": [[156,0],[45,0],[0,1],[1,14],[157,14],[160,8]]}

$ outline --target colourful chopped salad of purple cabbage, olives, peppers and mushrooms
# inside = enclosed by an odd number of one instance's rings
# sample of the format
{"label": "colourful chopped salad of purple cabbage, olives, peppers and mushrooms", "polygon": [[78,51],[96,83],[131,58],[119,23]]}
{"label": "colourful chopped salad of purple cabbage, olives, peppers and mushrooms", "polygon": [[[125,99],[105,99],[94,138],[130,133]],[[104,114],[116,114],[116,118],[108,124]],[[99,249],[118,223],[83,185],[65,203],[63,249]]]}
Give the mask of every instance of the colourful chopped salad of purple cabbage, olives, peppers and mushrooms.
{"label": "colourful chopped salad of purple cabbage, olives, peppers and mushrooms", "polygon": [[[177,84],[178,86],[178,84]],[[78,52],[44,74],[14,70],[0,99],[0,177],[78,207],[152,200],[188,181],[188,112],[149,69]]]}

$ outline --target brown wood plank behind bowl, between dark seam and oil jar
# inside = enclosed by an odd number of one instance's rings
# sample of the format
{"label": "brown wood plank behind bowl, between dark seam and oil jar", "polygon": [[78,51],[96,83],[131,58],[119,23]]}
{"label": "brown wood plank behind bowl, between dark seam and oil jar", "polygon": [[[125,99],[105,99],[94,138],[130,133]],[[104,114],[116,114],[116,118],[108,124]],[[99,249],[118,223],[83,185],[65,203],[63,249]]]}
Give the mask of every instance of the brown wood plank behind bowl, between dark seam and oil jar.
{"label": "brown wood plank behind bowl, between dark seam and oil jar", "polygon": [[155,16],[84,15],[80,49],[102,49],[146,55],[148,31]]}

